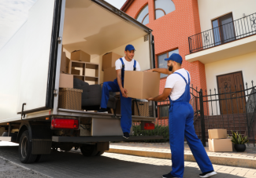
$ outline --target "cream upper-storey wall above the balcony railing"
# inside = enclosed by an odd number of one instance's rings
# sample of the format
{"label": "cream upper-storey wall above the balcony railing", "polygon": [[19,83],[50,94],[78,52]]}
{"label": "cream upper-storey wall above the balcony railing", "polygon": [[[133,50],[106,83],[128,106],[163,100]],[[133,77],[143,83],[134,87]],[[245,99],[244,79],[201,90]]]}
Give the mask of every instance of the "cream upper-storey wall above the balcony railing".
{"label": "cream upper-storey wall above the balcony railing", "polygon": [[255,0],[198,0],[201,31],[212,28],[211,20],[227,13],[233,14],[233,20],[256,13]]}

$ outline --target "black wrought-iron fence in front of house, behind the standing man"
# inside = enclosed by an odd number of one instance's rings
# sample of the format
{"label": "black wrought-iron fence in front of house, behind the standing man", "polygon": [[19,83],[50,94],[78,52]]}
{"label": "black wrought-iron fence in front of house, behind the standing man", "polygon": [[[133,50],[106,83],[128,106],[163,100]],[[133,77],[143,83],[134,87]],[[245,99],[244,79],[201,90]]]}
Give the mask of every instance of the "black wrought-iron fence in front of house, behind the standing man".
{"label": "black wrought-iron fence in front of house, behind the standing man", "polygon": [[[208,129],[227,129],[248,136],[249,143],[256,141],[256,86],[243,89],[242,85],[229,85],[220,89],[193,88],[191,85],[190,104],[194,109],[195,133],[204,146],[208,141]],[[154,109],[153,107],[150,108]],[[169,100],[156,102],[154,130],[142,130],[140,122],[133,123],[133,136],[164,136],[163,140],[143,140],[149,143],[169,142]]]}

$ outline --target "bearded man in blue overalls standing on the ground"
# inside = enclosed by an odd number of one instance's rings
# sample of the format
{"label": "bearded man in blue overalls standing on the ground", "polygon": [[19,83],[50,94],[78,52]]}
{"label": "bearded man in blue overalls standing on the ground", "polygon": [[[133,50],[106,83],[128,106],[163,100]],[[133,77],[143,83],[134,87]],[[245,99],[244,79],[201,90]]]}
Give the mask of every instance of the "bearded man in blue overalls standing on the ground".
{"label": "bearded man in blue overalls standing on the ground", "polygon": [[210,177],[217,173],[213,170],[210,158],[202,146],[201,140],[195,134],[194,129],[194,111],[189,104],[190,96],[190,74],[184,68],[181,68],[182,57],[173,53],[169,58],[166,68],[157,68],[150,71],[156,71],[163,74],[169,74],[166,79],[164,92],[148,100],[161,101],[169,97],[169,142],[172,151],[172,172],[163,175],[164,178],[183,177],[184,175],[184,137],[186,137],[202,174],[200,177]]}

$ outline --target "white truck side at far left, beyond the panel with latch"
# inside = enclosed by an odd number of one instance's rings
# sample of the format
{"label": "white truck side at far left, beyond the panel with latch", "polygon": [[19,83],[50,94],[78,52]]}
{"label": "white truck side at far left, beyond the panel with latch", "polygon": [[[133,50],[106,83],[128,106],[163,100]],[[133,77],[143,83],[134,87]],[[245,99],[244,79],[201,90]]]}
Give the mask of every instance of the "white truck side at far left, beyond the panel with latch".
{"label": "white truck side at far left, beyond the panel with latch", "polygon": [[0,50],[0,123],[20,118],[17,100],[27,23]]}

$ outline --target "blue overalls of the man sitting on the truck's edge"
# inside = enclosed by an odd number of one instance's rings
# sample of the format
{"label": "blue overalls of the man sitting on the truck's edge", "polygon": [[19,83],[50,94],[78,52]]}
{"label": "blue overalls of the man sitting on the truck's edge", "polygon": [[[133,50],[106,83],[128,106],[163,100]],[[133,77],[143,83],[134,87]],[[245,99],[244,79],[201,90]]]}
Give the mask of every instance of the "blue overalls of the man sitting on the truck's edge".
{"label": "blue overalls of the man sitting on the truck's edge", "polygon": [[[124,87],[124,61],[120,58],[122,63],[121,80]],[[133,71],[136,71],[136,60],[134,60]],[[132,127],[132,98],[125,98],[122,96],[121,90],[117,83],[117,78],[113,82],[104,82],[102,86],[102,100],[101,107],[106,108],[109,101],[109,92],[120,92],[121,98],[121,128],[123,133],[130,133]]]}

